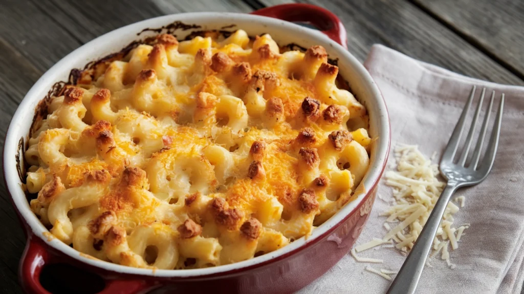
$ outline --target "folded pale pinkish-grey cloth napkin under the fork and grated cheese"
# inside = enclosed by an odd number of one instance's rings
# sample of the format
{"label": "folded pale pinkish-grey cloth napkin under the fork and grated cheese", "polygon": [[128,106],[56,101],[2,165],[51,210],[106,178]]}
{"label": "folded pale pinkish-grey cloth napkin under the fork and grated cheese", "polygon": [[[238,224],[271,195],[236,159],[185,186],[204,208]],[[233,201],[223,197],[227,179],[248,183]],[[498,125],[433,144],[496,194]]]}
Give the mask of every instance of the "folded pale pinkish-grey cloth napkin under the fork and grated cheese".
{"label": "folded pale pinkish-grey cloth napkin under the fork and grated cheese", "polygon": [[[459,248],[450,248],[450,259],[456,268],[449,268],[437,255],[431,261],[432,267],[424,268],[417,293],[520,293],[524,280],[524,87],[467,78],[381,45],[373,46],[364,65],[386,100],[391,119],[391,151],[398,143],[418,145],[427,158],[436,151],[437,161],[473,85],[477,85],[477,99],[479,90],[486,87],[483,110],[492,90],[496,91],[492,121],[500,93],[506,94],[491,173],[477,186],[456,192],[456,196],[464,195],[465,205],[454,215],[455,224],[471,224],[464,231]],[[474,100],[470,114],[477,101]],[[389,168],[395,167],[393,157],[391,153]],[[379,214],[387,209],[387,200],[391,198],[391,189],[381,181],[372,213],[356,245],[385,235],[385,217]],[[395,248],[375,248],[358,255],[384,259],[384,264],[357,263],[348,254],[301,292],[386,292],[391,281],[365,271],[365,267],[397,271],[405,256]]]}

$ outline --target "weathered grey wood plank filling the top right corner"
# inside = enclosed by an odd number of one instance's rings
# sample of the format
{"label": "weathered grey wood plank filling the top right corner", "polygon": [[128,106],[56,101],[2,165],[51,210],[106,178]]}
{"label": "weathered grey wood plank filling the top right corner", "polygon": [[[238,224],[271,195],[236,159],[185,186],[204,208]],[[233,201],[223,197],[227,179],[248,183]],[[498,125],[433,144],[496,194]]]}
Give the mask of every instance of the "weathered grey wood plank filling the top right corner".
{"label": "weathered grey wood plank filling the top right corner", "polygon": [[524,1],[410,1],[524,79]]}

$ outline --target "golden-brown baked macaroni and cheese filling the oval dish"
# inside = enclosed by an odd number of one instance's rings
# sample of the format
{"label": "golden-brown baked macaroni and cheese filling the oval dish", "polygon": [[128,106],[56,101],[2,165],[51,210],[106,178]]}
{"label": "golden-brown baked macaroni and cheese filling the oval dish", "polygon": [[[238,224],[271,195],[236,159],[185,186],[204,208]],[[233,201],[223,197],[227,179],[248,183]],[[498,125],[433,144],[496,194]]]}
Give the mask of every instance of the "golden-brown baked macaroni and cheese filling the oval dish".
{"label": "golden-brown baked macaroni and cheese filling the oval dish", "polygon": [[79,252],[201,268],[307,236],[369,165],[367,113],[326,51],[269,35],[159,35],[85,70],[25,158],[32,211]]}

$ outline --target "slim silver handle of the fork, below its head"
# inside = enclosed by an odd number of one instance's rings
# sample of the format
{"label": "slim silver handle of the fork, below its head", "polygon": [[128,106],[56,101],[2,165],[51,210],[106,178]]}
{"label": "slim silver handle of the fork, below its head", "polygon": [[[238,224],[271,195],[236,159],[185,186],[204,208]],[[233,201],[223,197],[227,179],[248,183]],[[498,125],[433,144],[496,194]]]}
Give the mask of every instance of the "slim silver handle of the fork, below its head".
{"label": "slim silver handle of the fork, below its head", "polygon": [[426,259],[428,259],[428,254],[433,246],[433,239],[435,238],[436,231],[439,228],[440,221],[446,210],[447,202],[450,201],[451,195],[453,195],[456,188],[456,184],[447,183],[440,194],[439,200],[436,201],[433,211],[428,217],[428,221],[422,228],[417,242],[413,248],[411,248],[411,252],[400,268],[397,277],[389,287],[387,294],[414,293]]}

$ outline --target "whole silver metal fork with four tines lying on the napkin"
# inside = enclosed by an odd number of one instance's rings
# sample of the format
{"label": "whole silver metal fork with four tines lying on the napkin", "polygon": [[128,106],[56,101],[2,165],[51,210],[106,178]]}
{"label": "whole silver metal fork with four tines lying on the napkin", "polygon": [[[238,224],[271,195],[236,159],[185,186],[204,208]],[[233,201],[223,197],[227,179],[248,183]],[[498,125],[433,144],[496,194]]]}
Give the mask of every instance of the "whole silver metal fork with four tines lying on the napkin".
{"label": "whole silver metal fork with four tines lying on the napkin", "polygon": [[486,129],[489,121],[489,114],[492,111],[493,100],[495,98],[495,91],[493,91],[489,106],[485,114],[484,122],[482,123],[481,133],[478,137],[473,156],[468,161],[468,153],[470,151],[473,134],[475,133],[475,125],[478,121],[478,115],[481,112],[482,101],[484,100],[484,94],[486,88],[482,90],[481,98],[478,102],[477,109],[473,116],[473,122],[466,137],[465,146],[462,150],[458,161],[454,162],[455,154],[459,148],[460,138],[464,130],[464,124],[466,121],[467,113],[470,109],[473,97],[475,95],[476,87],[473,86],[471,90],[470,98],[467,100],[464,110],[460,116],[459,122],[457,122],[453,134],[451,134],[450,141],[447,143],[447,147],[444,150],[442,159],[440,160],[440,173],[444,178],[447,179],[447,184],[440,194],[439,200],[431,212],[428,221],[425,223],[422,232],[420,232],[417,242],[411,249],[408,257],[404,264],[400,268],[397,277],[389,287],[388,294],[406,294],[413,293],[417,288],[417,284],[422,274],[428,254],[431,251],[433,245],[433,239],[435,238],[436,231],[439,228],[440,221],[444,215],[447,202],[450,201],[453,193],[462,187],[473,186],[482,182],[488,175],[489,171],[493,167],[495,161],[495,153],[498,147],[498,138],[500,134],[500,124],[502,122],[502,113],[504,108],[504,93],[500,99],[498,106],[497,117],[495,118],[494,127],[492,130],[491,138],[489,139],[489,145],[486,149],[484,158],[482,159],[481,165],[478,165],[481,157],[482,145],[486,136]]}

